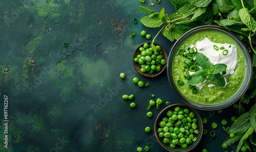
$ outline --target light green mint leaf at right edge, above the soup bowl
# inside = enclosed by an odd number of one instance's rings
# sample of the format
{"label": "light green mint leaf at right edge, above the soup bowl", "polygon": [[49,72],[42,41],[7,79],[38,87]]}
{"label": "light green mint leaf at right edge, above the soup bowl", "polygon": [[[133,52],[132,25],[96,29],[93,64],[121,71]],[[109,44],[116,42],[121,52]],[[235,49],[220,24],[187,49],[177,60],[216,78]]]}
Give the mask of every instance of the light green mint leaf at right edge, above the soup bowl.
{"label": "light green mint leaf at right edge, above the soup bowl", "polygon": [[254,20],[253,17],[251,17],[251,14],[249,13],[247,8],[240,9],[239,16],[252,32],[256,31],[256,21]]}

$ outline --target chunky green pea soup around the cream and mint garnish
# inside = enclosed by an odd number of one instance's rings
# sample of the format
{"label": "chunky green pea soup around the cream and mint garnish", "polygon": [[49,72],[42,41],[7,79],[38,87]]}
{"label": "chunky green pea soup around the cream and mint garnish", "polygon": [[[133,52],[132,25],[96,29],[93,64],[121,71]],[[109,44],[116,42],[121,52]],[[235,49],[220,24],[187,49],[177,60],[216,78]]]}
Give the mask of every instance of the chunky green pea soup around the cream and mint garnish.
{"label": "chunky green pea soup around the cream and mint garnish", "polygon": [[[237,47],[238,63],[234,73],[225,77],[227,82],[225,87],[220,87],[217,84],[212,85],[214,82],[206,80],[206,84],[199,89],[197,93],[193,93],[192,89],[186,85],[187,79],[184,77],[185,71],[182,70],[182,67],[185,65],[183,62],[184,57],[179,55],[179,50],[184,48],[186,45],[195,45],[197,41],[201,41],[204,38],[208,38],[210,41],[215,43],[235,45]],[[180,42],[177,49],[173,50],[172,54],[173,58],[170,63],[170,72],[172,72],[173,83],[175,83],[173,85],[175,85],[178,91],[191,102],[202,105],[222,103],[233,96],[233,94],[236,94],[245,80],[246,60],[240,45],[230,36],[219,30],[205,30],[189,35],[186,39]],[[178,85],[178,80],[182,80],[185,85]],[[211,85],[211,87],[208,87],[208,85]]]}

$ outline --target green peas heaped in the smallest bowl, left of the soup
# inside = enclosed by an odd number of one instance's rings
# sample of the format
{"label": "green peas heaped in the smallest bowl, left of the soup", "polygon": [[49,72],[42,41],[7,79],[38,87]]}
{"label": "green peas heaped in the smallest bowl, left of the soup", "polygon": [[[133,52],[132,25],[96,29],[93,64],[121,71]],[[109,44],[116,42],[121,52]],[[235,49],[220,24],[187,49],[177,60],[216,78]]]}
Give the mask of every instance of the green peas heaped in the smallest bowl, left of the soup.
{"label": "green peas heaped in the smallest bowl, left of the soup", "polygon": [[159,72],[163,65],[166,64],[163,59],[163,52],[159,45],[153,45],[144,43],[143,46],[139,47],[141,54],[137,55],[134,62],[141,65],[140,71],[142,73],[154,73]]}

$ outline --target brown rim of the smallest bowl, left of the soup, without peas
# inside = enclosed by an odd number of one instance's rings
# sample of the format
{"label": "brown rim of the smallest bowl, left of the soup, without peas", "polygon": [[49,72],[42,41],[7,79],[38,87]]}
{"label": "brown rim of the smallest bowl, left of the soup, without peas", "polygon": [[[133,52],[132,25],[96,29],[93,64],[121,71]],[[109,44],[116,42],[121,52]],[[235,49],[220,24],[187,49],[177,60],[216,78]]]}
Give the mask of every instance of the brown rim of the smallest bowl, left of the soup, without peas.
{"label": "brown rim of the smallest bowl, left of the soup, without peas", "polygon": [[167,56],[166,51],[165,51],[165,49],[163,48],[163,46],[162,46],[161,44],[157,43],[157,42],[154,42],[155,45],[159,45],[159,46],[161,47],[161,50],[162,50],[162,52],[163,52],[163,58],[165,58],[166,63],[165,63],[164,66],[162,66],[162,68],[161,68],[161,70],[160,70],[159,72],[154,72],[154,73],[148,73],[148,72],[146,72],[146,73],[142,73],[142,72],[140,71],[140,68],[139,68],[139,63],[136,63],[136,62],[134,61],[134,59],[137,57],[137,55],[136,55],[137,50],[139,50],[139,48],[140,48],[141,46],[143,46],[144,43],[148,43],[148,44],[150,45],[150,44],[152,43],[152,41],[143,42],[143,43],[141,43],[138,47],[136,47],[136,49],[135,49],[135,51],[134,51],[134,53],[133,53],[133,66],[134,66],[135,70],[136,70],[138,73],[140,73],[141,75],[143,75],[143,76],[145,76],[145,77],[156,77],[157,75],[161,74],[161,73],[165,70],[165,68],[166,68],[166,66],[167,66],[168,56]]}

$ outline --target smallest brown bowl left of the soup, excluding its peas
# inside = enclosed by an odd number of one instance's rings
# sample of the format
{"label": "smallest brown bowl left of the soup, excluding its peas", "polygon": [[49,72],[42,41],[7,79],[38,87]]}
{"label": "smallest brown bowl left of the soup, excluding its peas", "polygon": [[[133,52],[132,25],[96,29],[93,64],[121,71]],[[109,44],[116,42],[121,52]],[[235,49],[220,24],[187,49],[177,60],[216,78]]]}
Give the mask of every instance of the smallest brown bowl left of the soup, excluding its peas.
{"label": "smallest brown bowl left of the soup, excluding its peas", "polygon": [[[145,42],[145,43],[147,43],[148,45],[150,45],[152,42]],[[166,52],[165,52],[165,49],[164,49],[163,46],[160,45],[159,43],[156,43],[156,42],[154,43],[154,45],[159,45],[159,46],[161,47],[161,51],[163,52],[163,59],[166,61],[166,64],[163,65],[163,66],[161,67],[161,70],[158,71],[158,72],[155,71],[154,73],[149,73],[149,72],[142,73],[142,72],[140,71],[141,65],[140,65],[139,63],[136,63],[136,62],[134,61],[134,59],[137,57],[137,55],[140,55],[140,54],[141,54],[139,48],[140,48],[140,47],[143,47],[143,45],[144,45],[144,43],[140,44],[140,45],[135,49],[135,52],[134,52],[134,54],[133,54],[133,65],[134,65],[134,68],[136,69],[136,71],[137,71],[138,73],[140,73],[141,75],[143,75],[143,76],[145,76],[145,77],[156,77],[157,75],[159,75],[160,73],[162,73],[162,71],[164,71],[164,69],[166,68],[166,65],[167,65],[167,54],[166,54]]]}

